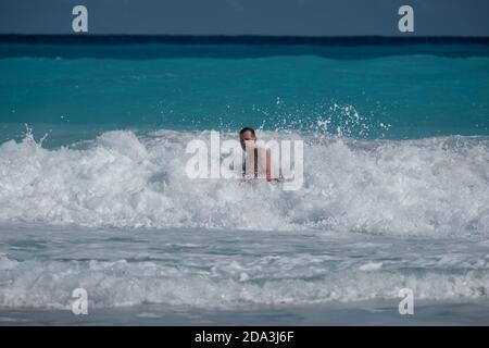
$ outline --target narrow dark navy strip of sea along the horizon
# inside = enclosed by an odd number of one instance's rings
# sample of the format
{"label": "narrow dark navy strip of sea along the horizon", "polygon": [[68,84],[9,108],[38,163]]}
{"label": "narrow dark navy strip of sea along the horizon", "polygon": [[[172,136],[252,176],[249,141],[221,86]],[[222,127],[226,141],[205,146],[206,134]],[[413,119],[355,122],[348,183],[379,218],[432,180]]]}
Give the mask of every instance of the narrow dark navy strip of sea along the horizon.
{"label": "narrow dark navy strip of sea along the horizon", "polygon": [[0,34],[0,44],[238,44],[238,45],[412,45],[482,44],[489,36],[283,36],[283,35],[148,35],[148,34]]}

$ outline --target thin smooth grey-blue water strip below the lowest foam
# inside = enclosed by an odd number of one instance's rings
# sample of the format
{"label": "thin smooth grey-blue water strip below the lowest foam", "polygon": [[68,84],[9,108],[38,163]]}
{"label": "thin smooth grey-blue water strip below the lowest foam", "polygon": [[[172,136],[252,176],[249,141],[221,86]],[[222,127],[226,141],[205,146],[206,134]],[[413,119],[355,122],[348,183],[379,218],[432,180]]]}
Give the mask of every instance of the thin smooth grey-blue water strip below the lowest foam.
{"label": "thin smooth grey-blue water strip below the lowest foam", "polygon": [[197,310],[145,304],[96,309],[87,315],[62,310],[0,311],[0,325],[489,325],[488,301],[416,304],[413,315],[401,315],[394,301],[363,301],[323,306],[291,306],[247,310]]}

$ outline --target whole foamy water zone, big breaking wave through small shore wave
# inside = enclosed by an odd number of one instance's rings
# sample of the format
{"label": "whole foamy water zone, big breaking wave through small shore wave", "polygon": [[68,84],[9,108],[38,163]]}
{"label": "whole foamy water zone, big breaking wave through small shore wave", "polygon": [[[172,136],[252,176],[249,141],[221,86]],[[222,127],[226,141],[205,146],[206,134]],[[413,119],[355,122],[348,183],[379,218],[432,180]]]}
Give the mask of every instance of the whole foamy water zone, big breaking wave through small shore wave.
{"label": "whole foamy water zone, big breaking wave through small shore wave", "polygon": [[2,144],[1,306],[68,308],[76,287],[93,307],[487,297],[487,138],[263,132],[305,140],[304,187],[284,191],[188,178],[185,147],[209,136]]}

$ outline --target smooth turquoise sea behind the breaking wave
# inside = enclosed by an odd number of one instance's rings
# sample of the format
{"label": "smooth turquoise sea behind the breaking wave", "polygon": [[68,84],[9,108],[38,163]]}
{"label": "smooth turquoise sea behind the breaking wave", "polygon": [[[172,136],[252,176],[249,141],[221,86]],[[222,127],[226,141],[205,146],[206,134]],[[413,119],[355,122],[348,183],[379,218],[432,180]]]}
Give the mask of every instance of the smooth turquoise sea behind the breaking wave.
{"label": "smooth turquoise sea behind the breaking wave", "polygon": [[3,127],[323,132],[330,119],[328,133],[363,138],[489,134],[488,46],[22,48],[0,51]]}

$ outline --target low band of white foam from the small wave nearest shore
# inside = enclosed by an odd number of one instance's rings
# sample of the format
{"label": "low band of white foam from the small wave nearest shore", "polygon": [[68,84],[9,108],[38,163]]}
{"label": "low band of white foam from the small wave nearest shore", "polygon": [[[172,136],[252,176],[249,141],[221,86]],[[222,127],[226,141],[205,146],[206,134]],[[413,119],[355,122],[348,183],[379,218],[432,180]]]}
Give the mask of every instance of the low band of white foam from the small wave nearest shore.
{"label": "low band of white foam from the small wave nearest shore", "polygon": [[186,268],[126,260],[15,262],[3,258],[0,266],[8,265],[0,273],[0,308],[68,309],[77,287],[87,290],[90,308],[142,303],[233,308],[397,299],[404,287],[413,289],[417,300],[488,296],[487,268],[463,274],[381,272],[377,268],[333,272],[321,260],[310,261],[260,257],[253,262],[217,260],[212,266]]}

